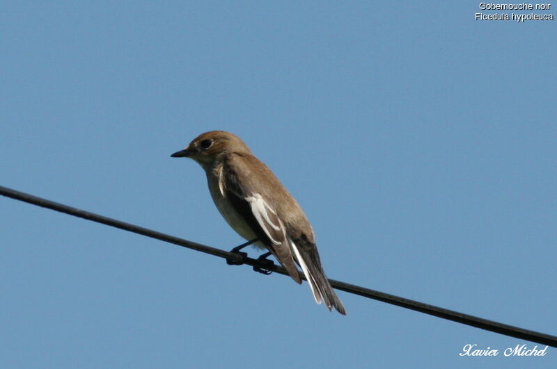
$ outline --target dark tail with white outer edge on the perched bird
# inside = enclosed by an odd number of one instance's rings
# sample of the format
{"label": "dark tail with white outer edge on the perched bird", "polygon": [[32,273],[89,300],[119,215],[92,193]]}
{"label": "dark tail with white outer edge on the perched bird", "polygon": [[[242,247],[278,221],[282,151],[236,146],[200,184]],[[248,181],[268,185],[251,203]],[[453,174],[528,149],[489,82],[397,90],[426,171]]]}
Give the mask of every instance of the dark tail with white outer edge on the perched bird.
{"label": "dark tail with white outer edge on the perched bird", "polygon": [[299,245],[296,245],[296,243],[290,241],[290,245],[292,246],[294,259],[300,265],[306,281],[308,281],[315,302],[321,304],[323,301],[329,311],[334,307],[336,311],[346,315],[343,303],[340,302],[323,271],[315,244],[302,241]]}

